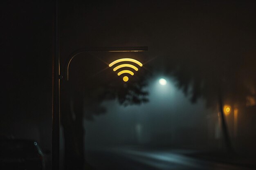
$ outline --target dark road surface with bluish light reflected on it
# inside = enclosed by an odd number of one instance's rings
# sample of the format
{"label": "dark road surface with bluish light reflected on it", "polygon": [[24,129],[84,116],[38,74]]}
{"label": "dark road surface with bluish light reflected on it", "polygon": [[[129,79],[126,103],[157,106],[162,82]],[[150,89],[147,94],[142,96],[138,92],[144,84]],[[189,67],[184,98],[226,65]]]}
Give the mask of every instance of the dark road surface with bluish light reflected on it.
{"label": "dark road surface with bluish light reflected on it", "polygon": [[180,151],[109,149],[88,153],[88,161],[97,170],[252,170],[253,168],[206,161],[185,156]]}

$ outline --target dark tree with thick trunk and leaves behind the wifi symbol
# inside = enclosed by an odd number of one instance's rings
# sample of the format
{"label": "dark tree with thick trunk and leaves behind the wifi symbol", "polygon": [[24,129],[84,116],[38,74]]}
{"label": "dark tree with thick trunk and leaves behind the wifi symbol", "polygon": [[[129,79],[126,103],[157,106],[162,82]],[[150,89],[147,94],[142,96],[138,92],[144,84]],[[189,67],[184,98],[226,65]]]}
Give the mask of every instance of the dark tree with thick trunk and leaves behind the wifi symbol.
{"label": "dark tree with thick trunk and leaves behind the wifi symbol", "polygon": [[86,53],[73,60],[69,81],[61,81],[61,121],[65,137],[65,168],[81,169],[84,164],[88,166],[84,162],[84,120],[93,120],[94,115],[106,113],[106,108],[101,106],[105,100],[117,99],[122,105],[147,102],[148,93],[143,90],[147,72],[141,69],[125,83],[94,55]]}

